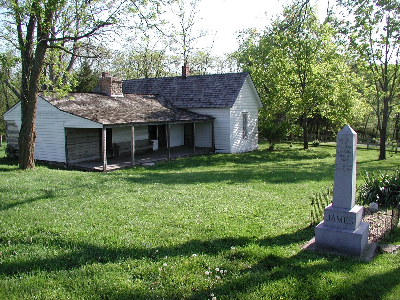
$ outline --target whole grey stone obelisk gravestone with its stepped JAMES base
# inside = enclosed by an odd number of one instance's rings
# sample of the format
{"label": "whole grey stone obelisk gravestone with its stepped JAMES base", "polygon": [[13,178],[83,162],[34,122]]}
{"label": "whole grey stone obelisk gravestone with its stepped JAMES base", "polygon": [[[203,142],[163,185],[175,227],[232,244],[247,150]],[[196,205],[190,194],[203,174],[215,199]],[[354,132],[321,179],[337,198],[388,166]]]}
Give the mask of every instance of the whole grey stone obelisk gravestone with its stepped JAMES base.
{"label": "whole grey stone obelisk gravestone with its stepped JAMES base", "polygon": [[369,224],[362,222],[362,206],[355,205],[356,146],[356,132],[344,126],[336,140],[332,203],[315,227],[316,249],[360,256],[368,244]]}

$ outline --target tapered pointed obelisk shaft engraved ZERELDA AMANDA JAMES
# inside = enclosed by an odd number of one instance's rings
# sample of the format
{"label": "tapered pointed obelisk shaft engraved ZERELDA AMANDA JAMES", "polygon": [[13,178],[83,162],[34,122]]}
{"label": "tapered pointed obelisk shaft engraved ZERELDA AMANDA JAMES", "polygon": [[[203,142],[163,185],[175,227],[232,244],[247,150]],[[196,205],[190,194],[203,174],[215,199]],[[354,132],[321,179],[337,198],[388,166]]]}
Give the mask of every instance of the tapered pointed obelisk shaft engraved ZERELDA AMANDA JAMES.
{"label": "tapered pointed obelisk shaft engraved ZERELDA AMANDA JAMES", "polygon": [[332,204],[351,209],[356,204],[357,134],[348,125],[336,139],[335,177]]}

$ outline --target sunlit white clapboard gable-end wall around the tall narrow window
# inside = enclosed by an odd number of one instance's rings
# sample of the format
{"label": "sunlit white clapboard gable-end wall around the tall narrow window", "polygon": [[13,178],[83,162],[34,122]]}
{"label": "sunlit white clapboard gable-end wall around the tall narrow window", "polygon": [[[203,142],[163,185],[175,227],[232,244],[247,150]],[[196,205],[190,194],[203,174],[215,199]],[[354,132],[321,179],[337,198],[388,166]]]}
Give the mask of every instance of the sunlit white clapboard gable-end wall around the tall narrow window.
{"label": "sunlit white clapboard gable-end wall around the tall narrow window", "polygon": [[[243,138],[243,114],[247,114],[247,138]],[[246,80],[230,110],[231,152],[241,153],[258,149],[258,103]]]}

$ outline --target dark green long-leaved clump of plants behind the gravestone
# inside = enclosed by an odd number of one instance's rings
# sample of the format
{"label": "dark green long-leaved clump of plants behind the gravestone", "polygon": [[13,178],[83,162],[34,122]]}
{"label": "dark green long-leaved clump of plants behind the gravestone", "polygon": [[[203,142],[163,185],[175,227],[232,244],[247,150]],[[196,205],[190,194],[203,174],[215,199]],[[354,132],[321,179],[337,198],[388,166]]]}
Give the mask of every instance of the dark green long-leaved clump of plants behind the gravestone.
{"label": "dark green long-leaved clump of plants behind the gravestone", "polygon": [[382,207],[397,205],[400,201],[400,168],[382,173],[375,170],[362,174],[363,183],[358,187],[358,203],[376,202]]}

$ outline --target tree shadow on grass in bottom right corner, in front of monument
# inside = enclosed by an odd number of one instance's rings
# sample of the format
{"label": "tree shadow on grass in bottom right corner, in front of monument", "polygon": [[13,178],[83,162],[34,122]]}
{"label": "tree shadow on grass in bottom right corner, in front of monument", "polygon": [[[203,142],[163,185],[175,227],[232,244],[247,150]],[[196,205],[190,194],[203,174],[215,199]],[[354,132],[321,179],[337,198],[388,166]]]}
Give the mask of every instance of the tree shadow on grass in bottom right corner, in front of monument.
{"label": "tree shadow on grass in bottom right corner, in front of monument", "polygon": [[[213,291],[220,298],[229,295],[232,299],[250,298],[249,293],[258,291],[256,294],[262,298],[322,299],[329,296],[329,299],[359,300],[384,298],[400,284],[400,266],[358,280],[352,273],[359,272],[366,264],[361,260],[304,251],[289,258],[270,254],[250,270],[242,270],[240,278],[226,280]],[[286,284],[290,289],[285,288]],[[268,286],[274,290],[271,294]],[[204,296],[202,291],[190,299]]]}

